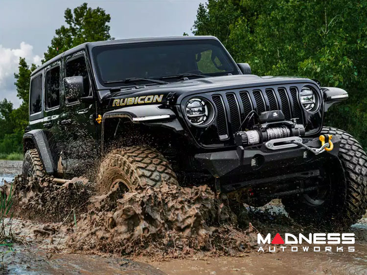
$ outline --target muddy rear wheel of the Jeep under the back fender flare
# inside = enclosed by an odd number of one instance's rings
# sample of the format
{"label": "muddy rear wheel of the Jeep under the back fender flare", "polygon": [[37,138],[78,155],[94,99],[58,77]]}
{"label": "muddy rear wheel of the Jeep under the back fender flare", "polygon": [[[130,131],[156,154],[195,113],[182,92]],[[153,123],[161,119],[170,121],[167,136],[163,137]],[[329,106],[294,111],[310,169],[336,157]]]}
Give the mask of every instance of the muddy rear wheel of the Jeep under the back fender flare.
{"label": "muddy rear wheel of the Jeep under the back fender flare", "polygon": [[40,179],[46,176],[46,171],[37,149],[30,149],[25,152],[23,158],[22,176],[24,178],[37,177]]}

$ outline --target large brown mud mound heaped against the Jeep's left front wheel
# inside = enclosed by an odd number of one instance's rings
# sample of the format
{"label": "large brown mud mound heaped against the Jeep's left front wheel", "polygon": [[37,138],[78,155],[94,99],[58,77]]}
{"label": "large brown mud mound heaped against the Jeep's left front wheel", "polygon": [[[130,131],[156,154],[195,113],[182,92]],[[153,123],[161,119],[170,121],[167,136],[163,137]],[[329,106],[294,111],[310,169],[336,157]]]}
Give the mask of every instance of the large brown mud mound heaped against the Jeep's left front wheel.
{"label": "large brown mud mound heaped against the Jeep's left front wheel", "polygon": [[[120,197],[120,198],[119,198]],[[162,184],[139,192],[118,188],[90,199],[69,237],[74,251],[181,257],[235,255],[256,245],[257,232],[236,229],[236,216],[207,186]]]}

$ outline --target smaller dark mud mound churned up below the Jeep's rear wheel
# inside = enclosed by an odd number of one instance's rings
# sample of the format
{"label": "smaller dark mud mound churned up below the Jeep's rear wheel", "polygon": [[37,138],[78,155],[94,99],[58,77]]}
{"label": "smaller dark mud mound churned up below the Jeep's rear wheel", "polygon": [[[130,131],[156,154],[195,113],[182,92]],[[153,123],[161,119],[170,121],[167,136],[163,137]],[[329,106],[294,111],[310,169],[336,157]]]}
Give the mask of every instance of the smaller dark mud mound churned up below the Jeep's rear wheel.
{"label": "smaller dark mud mound churned up below the Jeep's rear wheel", "polygon": [[89,198],[95,194],[94,184],[85,178],[56,184],[52,177],[39,180],[17,176],[12,187],[5,183],[2,191],[8,195],[10,188],[14,216],[41,222],[61,222],[72,210],[78,216],[86,211]]}

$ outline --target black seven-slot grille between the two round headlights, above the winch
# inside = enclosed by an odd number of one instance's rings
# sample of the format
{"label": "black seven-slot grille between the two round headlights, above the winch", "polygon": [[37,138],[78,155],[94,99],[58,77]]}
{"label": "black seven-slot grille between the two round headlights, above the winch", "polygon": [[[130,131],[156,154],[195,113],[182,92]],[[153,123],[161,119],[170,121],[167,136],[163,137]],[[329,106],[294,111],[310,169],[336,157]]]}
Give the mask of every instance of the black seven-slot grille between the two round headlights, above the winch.
{"label": "black seven-slot grille between the two round headlights, above the winch", "polygon": [[303,123],[297,87],[246,89],[239,93],[214,94],[211,98],[217,109],[220,140],[226,140],[237,132],[251,110],[255,110],[258,114],[264,111],[282,110],[286,120],[298,118],[297,122]]}

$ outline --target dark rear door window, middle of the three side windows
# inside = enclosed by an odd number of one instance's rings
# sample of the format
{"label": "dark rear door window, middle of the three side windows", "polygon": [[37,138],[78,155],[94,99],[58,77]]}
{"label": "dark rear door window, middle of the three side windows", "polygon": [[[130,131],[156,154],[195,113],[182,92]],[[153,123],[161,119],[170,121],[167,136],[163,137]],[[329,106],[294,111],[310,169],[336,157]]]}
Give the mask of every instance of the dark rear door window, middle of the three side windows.
{"label": "dark rear door window, middle of the three side windows", "polygon": [[60,66],[48,70],[45,77],[46,108],[60,106]]}

